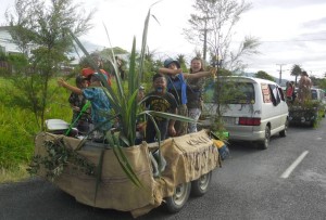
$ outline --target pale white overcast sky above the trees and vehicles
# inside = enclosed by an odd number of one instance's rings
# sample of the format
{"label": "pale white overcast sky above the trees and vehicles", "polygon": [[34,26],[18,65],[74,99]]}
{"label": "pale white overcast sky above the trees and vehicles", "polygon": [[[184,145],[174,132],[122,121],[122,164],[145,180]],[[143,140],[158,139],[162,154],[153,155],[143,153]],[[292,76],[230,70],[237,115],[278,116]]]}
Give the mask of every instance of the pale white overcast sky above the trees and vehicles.
{"label": "pale white overcast sky above the trees and vehicles", "polygon": [[[75,2],[82,2],[75,0]],[[89,51],[110,47],[103,23],[112,47],[130,51],[136,36],[140,48],[145,17],[149,7],[156,0],[91,0],[84,8],[97,10],[95,28],[82,39],[89,42]],[[185,54],[190,60],[196,47],[189,43],[183,28],[192,13],[195,0],[162,0],[151,12],[158,18],[150,21],[148,46],[161,59]],[[278,77],[280,65],[283,78],[290,77],[293,64],[299,64],[309,75],[323,77],[326,73],[326,1],[325,0],[247,0],[252,9],[241,15],[236,26],[234,41],[243,36],[260,39],[261,54],[246,59],[246,72],[264,70]],[[5,9],[12,9],[13,0],[1,0],[0,24],[4,24]]]}

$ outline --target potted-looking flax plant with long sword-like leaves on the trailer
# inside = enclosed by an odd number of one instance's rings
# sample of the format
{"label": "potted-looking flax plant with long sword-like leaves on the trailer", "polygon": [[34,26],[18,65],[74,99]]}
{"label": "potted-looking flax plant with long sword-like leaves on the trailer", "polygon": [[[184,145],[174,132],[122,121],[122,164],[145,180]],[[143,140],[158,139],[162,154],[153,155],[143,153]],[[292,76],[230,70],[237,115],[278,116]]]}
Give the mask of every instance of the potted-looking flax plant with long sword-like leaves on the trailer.
{"label": "potted-looking flax plant with long sword-like leaves on the trailer", "polygon": [[[152,111],[145,111],[139,113],[139,106],[143,102],[137,102],[137,93],[138,88],[140,86],[140,79],[142,78],[143,73],[143,61],[146,57],[146,48],[147,48],[147,35],[148,35],[148,25],[150,20],[150,10],[147,14],[146,21],[145,21],[145,27],[143,27],[143,34],[142,34],[142,42],[141,42],[141,52],[140,57],[136,59],[136,39],[134,38],[133,41],[133,49],[129,60],[129,75],[128,75],[128,88],[127,92],[125,92],[125,89],[122,83],[122,78],[118,73],[117,63],[115,60],[115,55],[113,50],[112,52],[112,60],[110,60],[112,66],[114,67],[114,74],[116,79],[116,90],[113,90],[109,85],[108,81],[102,77],[102,83],[105,88],[104,91],[110,100],[110,104],[112,106],[112,109],[114,112],[114,115],[109,118],[108,120],[112,120],[113,118],[118,120],[118,133],[112,134],[111,131],[106,132],[106,139],[109,141],[110,146],[113,148],[114,154],[116,158],[118,159],[118,163],[122,166],[122,169],[125,171],[125,173],[129,177],[129,179],[136,184],[141,185],[140,180],[136,176],[136,173],[133,171],[133,167],[129,165],[127,157],[124,155],[124,152],[122,151],[122,147],[128,147],[135,145],[136,140],[136,119],[140,115],[147,115],[150,120],[153,120],[153,116],[160,116],[168,119],[175,119],[175,120],[183,120],[183,121],[191,121],[195,122],[192,119],[188,117],[177,116],[173,114],[167,113],[161,113],[161,112],[152,112]],[[106,28],[105,28],[106,30]],[[108,34],[108,31],[106,31]],[[88,59],[88,63],[92,65],[92,67],[98,72],[98,67],[95,64],[95,62],[90,59],[89,53],[87,50],[83,47],[80,41],[77,37],[75,37],[71,33],[74,41],[78,44],[78,47],[83,50],[83,52],[86,55],[86,59]],[[108,35],[109,39],[109,35]],[[110,41],[110,39],[109,39]],[[112,47],[111,47],[112,48]],[[138,64],[136,62],[139,62]],[[160,131],[158,127],[155,126],[155,130],[159,133],[158,139],[160,142]],[[102,165],[99,165],[102,166]]]}

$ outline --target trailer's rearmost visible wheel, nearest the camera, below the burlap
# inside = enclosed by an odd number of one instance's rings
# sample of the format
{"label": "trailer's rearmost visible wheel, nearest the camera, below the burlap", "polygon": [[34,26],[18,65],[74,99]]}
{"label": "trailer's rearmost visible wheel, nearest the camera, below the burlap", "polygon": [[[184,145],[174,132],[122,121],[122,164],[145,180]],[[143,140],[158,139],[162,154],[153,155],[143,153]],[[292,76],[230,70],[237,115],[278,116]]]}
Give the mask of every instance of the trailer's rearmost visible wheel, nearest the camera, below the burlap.
{"label": "trailer's rearmost visible wheel, nearest the camera, below the burlap", "polygon": [[187,203],[191,191],[191,183],[181,183],[175,187],[173,196],[165,198],[165,207],[168,212],[175,213],[183,209]]}

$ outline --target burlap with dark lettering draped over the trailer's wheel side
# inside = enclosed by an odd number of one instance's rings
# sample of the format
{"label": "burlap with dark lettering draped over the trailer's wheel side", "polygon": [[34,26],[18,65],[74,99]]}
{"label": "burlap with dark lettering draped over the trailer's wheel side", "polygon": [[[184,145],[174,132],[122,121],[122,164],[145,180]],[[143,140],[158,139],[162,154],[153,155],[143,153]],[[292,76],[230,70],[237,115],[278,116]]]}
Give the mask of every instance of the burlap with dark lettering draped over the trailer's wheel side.
{"label": "burlap with dark lettering draped over the trailer's wheel side", "polygon": [[158,180],[160,187],[155,193],[161,193],[163,198],[172,196],[178,184],[197,180],[221,165],[218,151],[205,130],[167,139],[161,151],[167,166],[163,178]]}

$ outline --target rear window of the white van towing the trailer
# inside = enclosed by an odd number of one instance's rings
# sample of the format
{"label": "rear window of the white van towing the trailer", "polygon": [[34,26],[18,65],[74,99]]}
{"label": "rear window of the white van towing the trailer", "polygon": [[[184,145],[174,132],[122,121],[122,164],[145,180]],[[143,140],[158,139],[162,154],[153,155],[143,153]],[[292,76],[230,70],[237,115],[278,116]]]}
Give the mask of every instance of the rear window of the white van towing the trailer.
{"label": "rear window of the white van towing the trailer", "polygon": [[[216,90],[223,90],[223,93]],[[223,81],[221,88],[214,87],[214,83],[208,83],[204,89],[205,103],[223,104],[254,104],[254,87],[252,82]]]}

